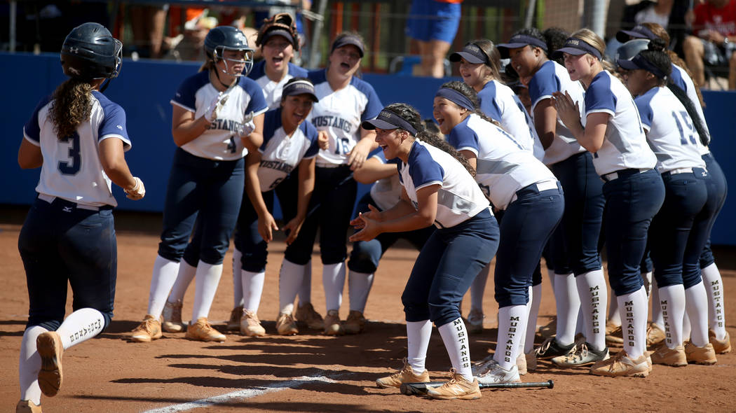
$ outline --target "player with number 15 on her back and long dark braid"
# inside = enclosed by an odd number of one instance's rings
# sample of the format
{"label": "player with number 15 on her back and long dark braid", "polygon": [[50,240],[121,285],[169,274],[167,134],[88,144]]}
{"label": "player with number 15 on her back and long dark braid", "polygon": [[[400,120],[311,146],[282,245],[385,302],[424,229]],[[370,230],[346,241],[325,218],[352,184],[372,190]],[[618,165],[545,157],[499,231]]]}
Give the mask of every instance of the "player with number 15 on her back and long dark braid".
{"label": "player with number 15 on her back and long dark braid", "polygon": [[[651,361],[673,366],[685,366],[688,359],[712,364],[715,352],[707,340],[705,287],[699,271],[683,272],[685,256],[697,265],[703,249],[695,242],[698,228],[693,223],[707,200],[707,172],[696,144],[705,129],[684,90],[675,85],[665,87],[672,63],[663,51],[664,43],[657,39],[649,46],[649,50],[618,64],[629,71],[624,76],[626,87],[636,96],[647,139],[657,154],[657,170],[665,183],[665,201],[652,220],[649,245],[659,293],[659,301],[654,304],[661,304],[666,338],[651,353]],[[687,355],[682,345],[686,296],[696,321],[706,319],[705,323],[693,323],[691,337],[695,344],[688,345]]]}

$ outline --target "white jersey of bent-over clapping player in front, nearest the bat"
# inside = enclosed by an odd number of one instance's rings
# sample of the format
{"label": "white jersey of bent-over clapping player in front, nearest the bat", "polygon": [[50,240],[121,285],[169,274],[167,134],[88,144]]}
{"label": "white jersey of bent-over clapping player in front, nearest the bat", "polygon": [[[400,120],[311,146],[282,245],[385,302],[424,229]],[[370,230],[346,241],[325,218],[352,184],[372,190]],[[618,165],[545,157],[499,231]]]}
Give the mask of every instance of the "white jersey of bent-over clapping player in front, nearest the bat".
{"label": "white jersey of bent-over clapping player in front, nearest the bat", "polygon": [[448,228],[475,217],[490,204],[473,176],[452,155],[429,143],[414,140],[408,162],[392,159],[399,168],[399,179],[414,208],[418,208],[417,190],[439,184],[434,225]]}

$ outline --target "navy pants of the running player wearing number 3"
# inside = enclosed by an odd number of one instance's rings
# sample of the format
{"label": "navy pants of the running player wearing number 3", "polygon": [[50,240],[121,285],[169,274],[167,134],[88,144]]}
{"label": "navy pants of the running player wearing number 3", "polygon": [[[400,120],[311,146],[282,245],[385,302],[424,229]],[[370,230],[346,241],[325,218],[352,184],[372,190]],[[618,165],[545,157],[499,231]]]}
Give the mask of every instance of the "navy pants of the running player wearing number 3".
{"label": "navy pants of the running player wearing number 3", "polygon": [[78,208],[56,198],[36,199],[18,237],[18,251],[26,269],[28,323],[56,331],[64,320],[66,284],[71,285],[72,308],[92,308],[113,317],[118,250],[112,206]]}

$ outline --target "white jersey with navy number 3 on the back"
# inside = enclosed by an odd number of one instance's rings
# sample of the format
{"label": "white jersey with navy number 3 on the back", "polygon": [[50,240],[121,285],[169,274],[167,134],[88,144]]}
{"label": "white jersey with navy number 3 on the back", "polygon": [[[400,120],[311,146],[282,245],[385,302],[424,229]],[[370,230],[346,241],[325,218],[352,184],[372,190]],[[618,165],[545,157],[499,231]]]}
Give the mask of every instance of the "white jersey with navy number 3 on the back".
{"label": "white jersey with navy number 3 on the back", "polygon": [[97,91],[92,92],[92,110],[73,135],[59,139],[54,132],[49,109],[52,96],[43,98],[23,129],[24,138],[40,146],[43,155],[36,192],[89,206],[118,203],[110,179],[99,160],[99,143],[110,137],[123,141],[130,149],[125,126],[125,111]]}

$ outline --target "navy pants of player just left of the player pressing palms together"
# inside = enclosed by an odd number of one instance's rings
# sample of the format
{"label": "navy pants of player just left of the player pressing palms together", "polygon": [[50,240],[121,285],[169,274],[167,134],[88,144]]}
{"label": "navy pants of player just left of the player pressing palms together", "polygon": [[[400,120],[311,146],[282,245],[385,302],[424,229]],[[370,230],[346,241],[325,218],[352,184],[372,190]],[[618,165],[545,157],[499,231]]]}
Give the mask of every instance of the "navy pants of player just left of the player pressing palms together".
{"label": "navy pants of player just left of the player pressing palms together", "polygon": [[565,190],[565,214],[552,234],[550,249],[555,273],[579,276],[601,268],[598,238],[604,206],[603,182],[590,152],[551,165]]}

